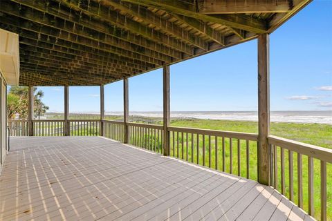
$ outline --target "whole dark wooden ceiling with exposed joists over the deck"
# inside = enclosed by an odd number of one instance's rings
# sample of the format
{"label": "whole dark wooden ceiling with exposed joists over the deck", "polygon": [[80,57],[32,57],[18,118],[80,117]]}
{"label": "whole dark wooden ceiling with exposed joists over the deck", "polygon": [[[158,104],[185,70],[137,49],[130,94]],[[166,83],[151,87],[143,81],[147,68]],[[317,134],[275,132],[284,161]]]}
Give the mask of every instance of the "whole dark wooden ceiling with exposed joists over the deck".
{"label": "whole dark wooden ceiling with exposed joists over the deck", "polygon": [[0,0],[22,86],[107,84],[273,32],[310,0]]}

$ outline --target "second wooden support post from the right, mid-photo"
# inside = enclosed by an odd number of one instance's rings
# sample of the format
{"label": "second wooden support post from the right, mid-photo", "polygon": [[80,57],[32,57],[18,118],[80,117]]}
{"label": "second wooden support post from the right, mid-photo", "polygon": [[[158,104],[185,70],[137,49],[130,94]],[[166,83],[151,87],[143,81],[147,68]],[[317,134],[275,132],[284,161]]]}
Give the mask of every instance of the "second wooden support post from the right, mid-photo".
{"label": "second wooden support post from the right, mid-photo", "polygon": [[169,66],[163,66],[163,126],[164,126],[164,155],[169,156],[169,123],[171,118],[169,96]]}

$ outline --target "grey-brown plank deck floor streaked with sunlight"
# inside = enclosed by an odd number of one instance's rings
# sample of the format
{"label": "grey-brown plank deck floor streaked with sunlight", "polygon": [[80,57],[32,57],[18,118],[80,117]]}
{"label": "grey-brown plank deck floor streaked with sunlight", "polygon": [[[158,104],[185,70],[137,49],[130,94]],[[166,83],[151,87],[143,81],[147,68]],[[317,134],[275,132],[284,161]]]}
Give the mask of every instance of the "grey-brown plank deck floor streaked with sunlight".
{"label": "grey-brown plank deck floor streaked with sunlight", "polygon": [[15,137],[0,220],[312,220],[269,186],[101,137]]}

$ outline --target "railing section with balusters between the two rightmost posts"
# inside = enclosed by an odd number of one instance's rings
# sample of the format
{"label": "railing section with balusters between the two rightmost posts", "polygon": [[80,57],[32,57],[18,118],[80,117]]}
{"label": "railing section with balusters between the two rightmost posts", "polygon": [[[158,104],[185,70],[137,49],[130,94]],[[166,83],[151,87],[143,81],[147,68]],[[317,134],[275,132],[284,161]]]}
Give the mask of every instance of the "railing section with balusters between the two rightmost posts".
{"label": "railing section with balusters between the two rightmost posts", "polygon": [[257,180],[257,134],[170,126],[170,155]]}

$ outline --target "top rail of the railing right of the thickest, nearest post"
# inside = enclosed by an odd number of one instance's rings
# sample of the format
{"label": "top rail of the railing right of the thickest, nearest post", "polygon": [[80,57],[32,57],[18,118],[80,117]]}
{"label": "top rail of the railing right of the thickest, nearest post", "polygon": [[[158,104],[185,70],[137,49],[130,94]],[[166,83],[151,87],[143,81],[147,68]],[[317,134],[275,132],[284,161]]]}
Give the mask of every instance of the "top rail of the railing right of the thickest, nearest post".
{"label": "top rail of the railing right of the thickest, nearest post", "polygon": [[329,148],[315,146],[312,144],[305,144],[294,140],[288,140],[286,138],[277,137],[274,135],[268,136],[268,143],[286,148],[290,151],[301,153],[303,155],[308,155],[318,160],[332,163],[332,150]]}

